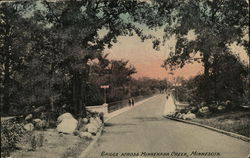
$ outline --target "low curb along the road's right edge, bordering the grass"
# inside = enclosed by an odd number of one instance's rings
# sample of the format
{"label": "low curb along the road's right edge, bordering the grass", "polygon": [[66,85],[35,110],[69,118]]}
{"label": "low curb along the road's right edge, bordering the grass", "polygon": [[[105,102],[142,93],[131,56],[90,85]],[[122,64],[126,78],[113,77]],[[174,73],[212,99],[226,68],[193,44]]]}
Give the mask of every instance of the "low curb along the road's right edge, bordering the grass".
{"label": "low curb along the road's right edge, bordering the grass", "polygon": [[183,123],[187,123],[187,124],[191,124],[191,125],[196,125],[196,126],[200,126],[200,127],[203,127],[203,128],[207,128],[207,129],[212,130],[212,131],[216,131],[216,132],[219,132],[219,133],[222,133],[222,134],[225,134],[225,135],[237,138],[237,139],[241,139],[241,140],[246,141],[246,142],[250,142],[250,138],[248,138],[246,136],[243,136],[243,135],[240,135],[240,134],[236,134],[236,133],[224,131],[224,130],[221,130],[221,129],[217,129],[217,128],[214,128],[214,127],[211,127],[211,126],[207,126],[207,125],[203,125],[203,124],[200,124],[200,123],[197,123],[197,122],[193,122],[193,121],[182,120],[182,119],[173,118],[173,117],[169,117],[169,116],[163,116],[163,117],[165,117],[167,119],[170,119],[170,120],[179,121],[179,122],[183,122]]}

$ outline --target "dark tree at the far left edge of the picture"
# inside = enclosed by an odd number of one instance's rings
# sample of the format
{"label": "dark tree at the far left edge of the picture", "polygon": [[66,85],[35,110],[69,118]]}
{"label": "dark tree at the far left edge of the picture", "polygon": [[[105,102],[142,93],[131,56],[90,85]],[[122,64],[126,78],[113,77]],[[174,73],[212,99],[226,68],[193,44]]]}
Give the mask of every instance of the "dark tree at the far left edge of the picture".
{"label": "dark tree at the far left edge of the picture", "polygon": [[[27,21],[18,12],[18,4],[1,3],[0,5],[0,70],[1,70],[1,111],[8,112],[11,99],[14,99],[14,80],[16,72],[24,68],[24,51],[27,48]],[[15,86],[14,86],[15,85]]]}

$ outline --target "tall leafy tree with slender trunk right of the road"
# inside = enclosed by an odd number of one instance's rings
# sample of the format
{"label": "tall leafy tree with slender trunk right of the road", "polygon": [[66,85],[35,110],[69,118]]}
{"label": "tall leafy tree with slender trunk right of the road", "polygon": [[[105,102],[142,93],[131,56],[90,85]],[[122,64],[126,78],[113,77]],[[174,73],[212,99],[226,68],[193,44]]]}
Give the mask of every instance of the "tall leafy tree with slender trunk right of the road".
{"label": "tall leafy tree with slender trunk right of the road", "polygon": [[[170,53],[164,66],[176,68],[193,61],[201,61],[206,81],[203,85],[204,93],[207,93],[206,89],[211,83],[209,76],[212,64],[219,56],[230,52],[229,44],[240,43],[244,31],[248,29],[249,5],[246,0],[188,0],[173,4],[176,6],[172,10],[173,16],[165,20],[168,22],[165,38],[174,35],[177,43],[175,51]],[[160,4],[162,14],[166,14],[162,8],[164,6]],[[190,31],[196,34],[195,40],[188,39],[187,34]]]}

